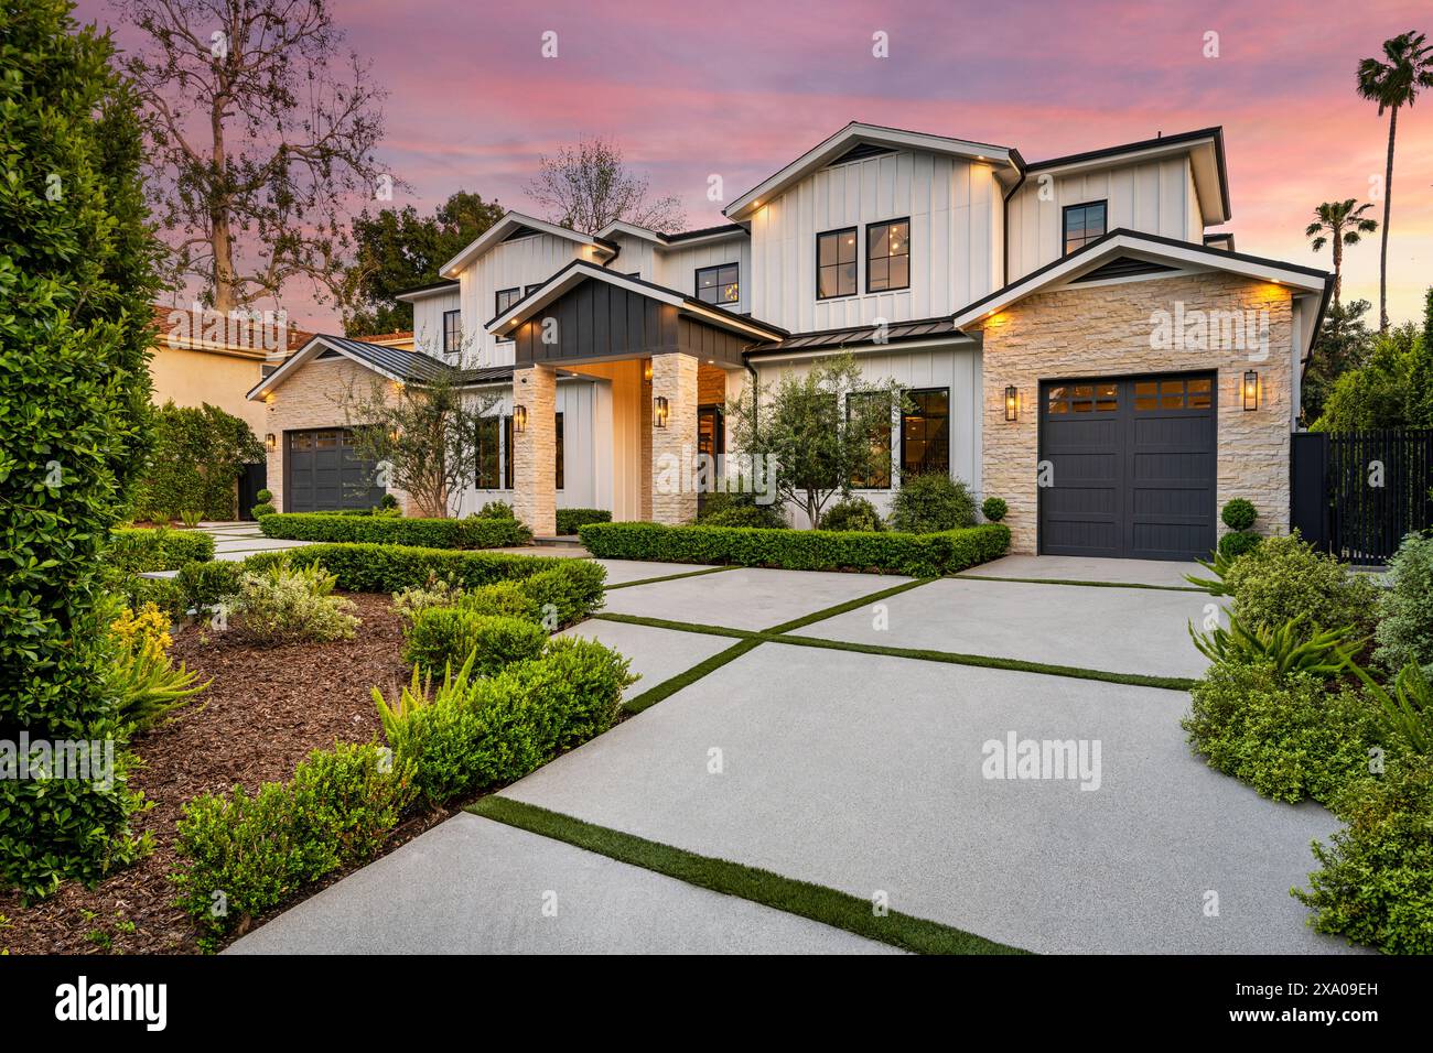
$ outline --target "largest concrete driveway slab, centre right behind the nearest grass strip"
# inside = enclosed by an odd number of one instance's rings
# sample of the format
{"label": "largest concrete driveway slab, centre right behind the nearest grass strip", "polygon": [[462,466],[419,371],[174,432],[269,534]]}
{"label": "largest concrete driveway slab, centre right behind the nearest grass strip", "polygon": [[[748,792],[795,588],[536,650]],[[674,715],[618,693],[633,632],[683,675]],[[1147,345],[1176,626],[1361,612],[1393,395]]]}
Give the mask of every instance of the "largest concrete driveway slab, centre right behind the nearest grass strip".
{"label": "largest concrete driveway slab, centre right behind the nearest grass strip", "polygon": [[[1347,950],[1288,894],[1337,821],[1207,768],[1179,728],[1187,706],[1154,688],[764,643],[503,794],[884,890],[893,910],[1032,951]],[[1099,788],[984,778],[984,744],[1012,732],[1099,742]]]}

